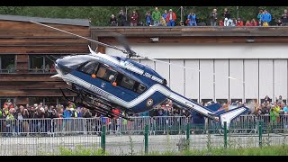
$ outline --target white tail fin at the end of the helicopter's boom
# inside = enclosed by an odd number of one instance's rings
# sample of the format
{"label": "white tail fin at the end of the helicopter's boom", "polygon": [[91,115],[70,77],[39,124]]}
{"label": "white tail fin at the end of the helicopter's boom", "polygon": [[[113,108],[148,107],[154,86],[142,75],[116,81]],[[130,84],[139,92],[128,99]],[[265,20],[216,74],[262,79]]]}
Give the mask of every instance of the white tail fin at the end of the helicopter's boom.
{"label": "white tail fin at the end of the helicopter's boom", "polygon": [[247,108],[245,106],[241,106],[241,107],[229,110],[227,112],[219,112],[216,114],[219,116],[222,128],[224,128],[224,121],[227,121],[227,128],[229,129],[231,121],[233,121],[239,115],[247,113],[248,110],[249,110],[249,108]]}

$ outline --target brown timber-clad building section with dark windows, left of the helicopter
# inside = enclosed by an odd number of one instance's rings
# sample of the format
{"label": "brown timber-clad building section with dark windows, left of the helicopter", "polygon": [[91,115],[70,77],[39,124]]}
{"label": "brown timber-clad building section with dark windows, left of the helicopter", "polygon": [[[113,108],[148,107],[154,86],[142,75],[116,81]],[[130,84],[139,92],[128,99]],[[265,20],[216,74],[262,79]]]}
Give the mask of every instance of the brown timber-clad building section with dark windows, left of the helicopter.
{"label": "brown timber-clad building section with dark windows, left of the helicopter", "polygon": [[[45,23],[90,38],[89,21],[0,15],[0,103],[59,103],[59,87],[66,84],[55,74],[46,56],[88,53],[87,40],[30,21]],[[69,94],[73,96],[74,94]]]}

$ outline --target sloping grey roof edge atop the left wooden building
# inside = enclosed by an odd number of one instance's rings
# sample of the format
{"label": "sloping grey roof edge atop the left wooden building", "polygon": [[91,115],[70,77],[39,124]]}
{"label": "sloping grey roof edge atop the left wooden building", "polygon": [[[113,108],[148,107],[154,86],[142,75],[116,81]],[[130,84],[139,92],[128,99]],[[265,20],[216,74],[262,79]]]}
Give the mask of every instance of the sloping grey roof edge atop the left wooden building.
{"label": "sloping grey roof edge atop the left wooden building", "polygon": [[38,23],[57,23],[77,26],[89,26],[88,19],[58,19],[58,18],[43,18],[29,17],[20,15],[0,14],[0,20],[17,21],[17,22],[38,22]]}

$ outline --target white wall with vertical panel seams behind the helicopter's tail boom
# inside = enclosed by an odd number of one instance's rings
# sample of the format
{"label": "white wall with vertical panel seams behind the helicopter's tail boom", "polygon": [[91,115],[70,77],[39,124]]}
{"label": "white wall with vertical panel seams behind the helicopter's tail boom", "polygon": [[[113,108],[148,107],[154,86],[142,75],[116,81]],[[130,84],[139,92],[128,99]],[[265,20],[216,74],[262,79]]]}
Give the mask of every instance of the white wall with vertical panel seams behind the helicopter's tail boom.
{"label": "white wall with vertical panel seams behind the helicopter's tail boom", "polygon": [[[266,95],[273,100],[279,95],[287,99],[288,46],[284,44],[151,44],[131,48],[139,55],[172,64],[139,60],[164,76],[175,92],[198,101],[259,101]],[[121,55],[114,49],[106,49],[106,53]]]}

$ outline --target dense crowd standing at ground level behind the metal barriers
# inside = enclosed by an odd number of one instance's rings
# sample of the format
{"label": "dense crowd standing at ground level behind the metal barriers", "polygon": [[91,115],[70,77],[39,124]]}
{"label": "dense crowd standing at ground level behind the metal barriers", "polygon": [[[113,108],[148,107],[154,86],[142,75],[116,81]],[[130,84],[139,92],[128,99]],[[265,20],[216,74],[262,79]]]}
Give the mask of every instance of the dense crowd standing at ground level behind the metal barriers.
{"label": "dense crowd standing at ground level behind the metal barriers", "polygon": [[[215,102],[210,101],[207,103],[200,103],[203,106],[209,106]],[[228,111],[230,109],[233,109],[235,107],[244,105],[249,108],[249,112],[247,114],[254,114],[257,117],[263,117],[266,116],[268,118],[265,118],[266,123],[277,123],[281,121],[282,117],[285,114],[288,114],[288,107],[286,106],[286,103],[284,103],[282,96],[280,95],[278,98],[275,98],[275,102],[272,102],[272,99],[268,96],[265,97],[264,102],[261,104],[258,104],[257,101],[252,103],[242,103],[241,101],[235,101],[231,103],[231,101],[228,100],[227,103],[220,103],[220,109],[225,109],[225,111]],[[220,110],[219,109],[219,110]],[[120,110],[114,109],[115,113],[121,113]],[[284,114],[284,115],[282,115]],[[149,112],[142,112],[139,114],[133,114],[134,117],[157,117],[157,124],[161,125],[160,123],[160,117],[179,117],[177,119],[180,119],[181,117],[185,117],[184,119],[191,119],[192,123],[204,123],[205,118],[202,116],[202,114],[198,112],[189,112],[186,111],[174,103],[172,103],[171,100],[166,100],[164,103],[157,105],[154,109],[152,109]],[[102,118],[103,116],[92,111],[89,109],[86,109],[85,107],[76,107],[74,103],[67,103],[67,106],[64,106],[62,104],[58,104],[57,106],[54,105],[44,105],[43,103],[34,103],[33,105],[15,105],[10,100],[7,100],[3,108],[0,109],[0,132],[50,132],[54,131],[52,129],[58,129],[58,130],[73,130],[76,125],[83,130],[83,126],[80,126],[80,122],[71,122],[68,121],[71,118],[97,118],[99,121],[101,121],[101,124],[105,123],[111,123],[112,125],[109,126],[109,129],[116,130],[117,126],[120,125],[120,121],[118,120],[119,117],[115,116],[112,119],[108,118]],[[192,118],[191,118],[192,117]],[[64,119],[64,121],[58,121],[58,123],[53,123],[49,120],[47,121],[40,121],[45,119]],[[25,120],[29,119],[29,120]],[[67,119],[67,120],[65,120]],[[176,119],[176,118],[175,118]],[[108,120],[108,121],[107,121]],[[15,122],[18,122],[18,124],[15,124]],[[87,121],[86,124],[90,125],[89,128],[91,129],[93,125],[93,121]],[[121,124],[127,124],[130,121],[127,120],[121,120]],[[158,123],[159,122],[159,123]],[[20,123],[20,124],[19,124]],[[19,128],[15,127],[18,126]],[[96,124],[94,124],[96,125]],[[128,125],[131,125],[128,124]],[[95,126],[94,129],[100,129],[101,126]],[[41,130],[39,130],[41,129]],[[9,135],[9,133],[7,134]]]}

